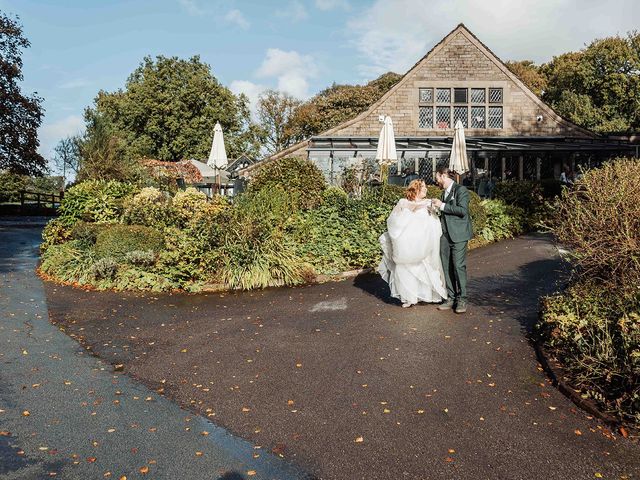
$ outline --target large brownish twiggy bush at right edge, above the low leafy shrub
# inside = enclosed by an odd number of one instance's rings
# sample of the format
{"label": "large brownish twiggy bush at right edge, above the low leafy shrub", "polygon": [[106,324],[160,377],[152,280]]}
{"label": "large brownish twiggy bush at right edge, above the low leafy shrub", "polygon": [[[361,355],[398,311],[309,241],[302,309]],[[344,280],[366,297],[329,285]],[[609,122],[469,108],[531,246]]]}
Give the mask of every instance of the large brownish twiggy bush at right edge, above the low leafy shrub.
{"label": "large brownish twiggy bush at right edge, above the low leafy shrub", "polygon": [[640,286],[640,160],[587,171],[556,203],[553,230],[583,277],[636,295]]}

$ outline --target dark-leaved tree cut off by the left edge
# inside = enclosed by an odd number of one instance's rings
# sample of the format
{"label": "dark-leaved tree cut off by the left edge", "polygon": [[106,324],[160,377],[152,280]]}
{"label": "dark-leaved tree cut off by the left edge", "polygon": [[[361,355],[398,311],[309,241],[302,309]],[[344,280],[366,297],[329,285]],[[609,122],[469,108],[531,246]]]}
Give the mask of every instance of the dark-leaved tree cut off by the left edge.
{"label": "dark-leaved tree cut off by the left edge", "polygon": [[37,150],[42,98],[24,95],[21,50],[30,46],[19,19],[0,12],[0,170],[35,175],[46,169]]}

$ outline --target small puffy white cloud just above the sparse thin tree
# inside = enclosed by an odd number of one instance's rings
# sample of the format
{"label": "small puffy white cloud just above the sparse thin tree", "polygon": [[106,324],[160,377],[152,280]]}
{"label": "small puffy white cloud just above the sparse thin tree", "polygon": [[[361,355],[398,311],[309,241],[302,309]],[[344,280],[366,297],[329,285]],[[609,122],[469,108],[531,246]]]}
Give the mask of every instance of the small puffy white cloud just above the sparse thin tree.
{"label": "small puffy white cloud just above the sparse thin tree", "polygon": [[309,97],[309,79],[317,74],[317,70],[316,62],[310,55],[270,48],[256,75],[276,78],[278,90],[306,99]]}

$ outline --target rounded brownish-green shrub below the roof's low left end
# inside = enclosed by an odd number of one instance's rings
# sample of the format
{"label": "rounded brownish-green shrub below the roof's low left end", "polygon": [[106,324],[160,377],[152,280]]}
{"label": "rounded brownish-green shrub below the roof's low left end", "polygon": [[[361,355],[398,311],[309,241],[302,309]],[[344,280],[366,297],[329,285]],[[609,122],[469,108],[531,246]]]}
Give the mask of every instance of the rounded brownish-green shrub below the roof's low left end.
{"label": "rounded brownish-green shrub below the roof's low left end", "polygon": [[327,184],[320,169],[309,160],[280,158],[260,167],[251,178],[249,192],[282,188],[289,192],[296,205],[313,208],[322,201]]}

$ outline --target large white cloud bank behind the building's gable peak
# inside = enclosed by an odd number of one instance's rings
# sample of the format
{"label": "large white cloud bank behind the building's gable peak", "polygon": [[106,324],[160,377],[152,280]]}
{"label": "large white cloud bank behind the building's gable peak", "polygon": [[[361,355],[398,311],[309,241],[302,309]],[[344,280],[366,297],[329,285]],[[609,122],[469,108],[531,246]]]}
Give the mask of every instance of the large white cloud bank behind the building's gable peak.
{"label": "large white cloud bank behind the building's gable peak", "polygon": [[346,34],[362,56],[360,73],[371,78],[406,72],[461,22],[502,60],[545,62],[625,34],[639,19],[635,0],[376,0]]}

